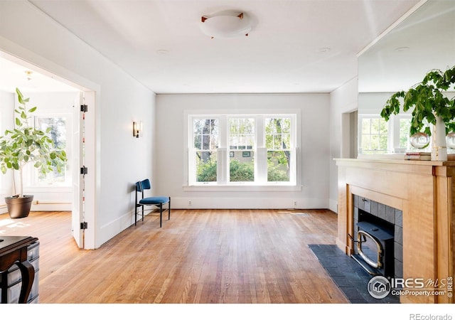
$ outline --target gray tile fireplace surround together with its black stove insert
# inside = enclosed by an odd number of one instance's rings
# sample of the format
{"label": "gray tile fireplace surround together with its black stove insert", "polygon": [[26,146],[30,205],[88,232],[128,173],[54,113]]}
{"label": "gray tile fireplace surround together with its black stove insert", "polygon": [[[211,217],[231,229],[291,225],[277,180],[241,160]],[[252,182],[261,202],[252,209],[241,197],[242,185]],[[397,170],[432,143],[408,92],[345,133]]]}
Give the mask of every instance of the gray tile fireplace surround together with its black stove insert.
{"label": "gray tile fireplace surround together with its black stove insert", "polygon": [[368,198],[353,197],[351,256],[372,275],[402,277],[402,212]]}

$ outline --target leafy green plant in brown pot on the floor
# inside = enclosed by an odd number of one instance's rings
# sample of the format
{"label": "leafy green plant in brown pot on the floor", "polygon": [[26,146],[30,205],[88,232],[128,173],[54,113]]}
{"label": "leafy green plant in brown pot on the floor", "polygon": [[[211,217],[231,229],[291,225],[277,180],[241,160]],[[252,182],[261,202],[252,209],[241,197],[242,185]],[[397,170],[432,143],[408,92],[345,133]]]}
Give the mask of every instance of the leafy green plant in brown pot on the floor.
{"label": "leafy green plant in brown pot on the floor", "polygon": [[[32,127],[31,115],[37,107],[28,109],[21,91],[16,88],[19,106],[14,109],[15,127],[7,129],[4,136],[0,137],[0,171],[3,174],[11,169],[19,174],[19,193],[5,198],[6,206],[11,218],[24,218],[30,212],[33,196],[23,194],[23,169],[29,163],[33,163],[36,170],[41,174],[47,174],[57,170],[65,170],[67,161],[66,153],[62,149],[55,148],[53,140],[46,132]],[[16,191],[16,185],[14,186]]]}

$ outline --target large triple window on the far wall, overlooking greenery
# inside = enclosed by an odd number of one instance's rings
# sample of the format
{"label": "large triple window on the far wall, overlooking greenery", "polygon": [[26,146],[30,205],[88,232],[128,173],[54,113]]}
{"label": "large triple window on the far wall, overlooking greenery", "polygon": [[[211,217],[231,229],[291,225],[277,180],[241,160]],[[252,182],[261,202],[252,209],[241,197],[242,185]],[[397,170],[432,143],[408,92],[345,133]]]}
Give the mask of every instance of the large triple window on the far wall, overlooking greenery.
{"label": "large triple window on the far wall, overlooking greenery", "polygon": [[188,117],[188,185],[296,186],[296,114]]}

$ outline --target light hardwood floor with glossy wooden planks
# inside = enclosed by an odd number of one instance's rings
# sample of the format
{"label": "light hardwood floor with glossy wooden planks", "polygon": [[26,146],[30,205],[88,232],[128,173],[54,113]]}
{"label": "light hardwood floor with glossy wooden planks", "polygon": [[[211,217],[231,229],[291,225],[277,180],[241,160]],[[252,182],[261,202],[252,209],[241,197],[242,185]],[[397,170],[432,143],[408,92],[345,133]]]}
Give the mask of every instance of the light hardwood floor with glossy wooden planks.
{"label": "light hardwood floor with glossy wooden planks", "polygon": [[330,210],[173,210],[161,229],[157,219],[97,250],[76,247],[69,212],[0,215],[0,237],[40,240],[45,304],[348,303],[308,247],[334,244]]}

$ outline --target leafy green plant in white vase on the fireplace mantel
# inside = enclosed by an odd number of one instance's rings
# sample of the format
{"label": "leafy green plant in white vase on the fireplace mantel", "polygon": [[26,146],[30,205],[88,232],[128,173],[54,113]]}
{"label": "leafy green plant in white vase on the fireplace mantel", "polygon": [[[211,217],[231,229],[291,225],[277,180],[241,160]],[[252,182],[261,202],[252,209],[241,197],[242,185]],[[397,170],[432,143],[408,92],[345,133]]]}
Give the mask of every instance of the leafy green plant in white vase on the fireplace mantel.
{"label": "leafy green plant in white vase on the fireplace mantel", "polygon": [[[454,84],[455,66],[445,72],[430,70],[422,82],[410,90],[395,92],[387,100],[380,115],[388,121],[391,114],[398,114],[401,109],[404,112],[412,110],[410,135],[424,132],[433,136],[432,160],[445,161],[446,134],[455,130],[455,100],[449,99],[444,93],[454,90]],[[429,124],[433,125],[433,132]]]}

